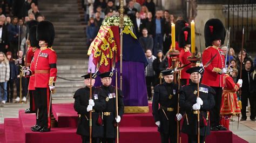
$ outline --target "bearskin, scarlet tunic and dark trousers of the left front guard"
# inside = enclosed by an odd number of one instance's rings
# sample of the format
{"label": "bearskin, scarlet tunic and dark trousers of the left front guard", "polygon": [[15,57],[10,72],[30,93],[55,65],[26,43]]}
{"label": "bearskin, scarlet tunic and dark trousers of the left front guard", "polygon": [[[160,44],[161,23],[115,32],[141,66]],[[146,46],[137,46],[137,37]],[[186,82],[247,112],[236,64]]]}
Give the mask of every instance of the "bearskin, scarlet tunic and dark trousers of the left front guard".
{"label": "bearskin, scarlet tunic and dark trousers of the left front guard", "polygon": [[33,66],[31,66],[30,74],[35,74],[35,94],[38,96],[38,109],[39,109],[39,126],[40,132],[48,132],[51,128],[51,117],[48,117],[50,107],[50,88],[55,86],[57,76],[57,55],[51,49],[55,31],[51,22],[42,21],[37,26],[37,40],[45,41],[46,46],[41,46],[40,50],[35,52]]}

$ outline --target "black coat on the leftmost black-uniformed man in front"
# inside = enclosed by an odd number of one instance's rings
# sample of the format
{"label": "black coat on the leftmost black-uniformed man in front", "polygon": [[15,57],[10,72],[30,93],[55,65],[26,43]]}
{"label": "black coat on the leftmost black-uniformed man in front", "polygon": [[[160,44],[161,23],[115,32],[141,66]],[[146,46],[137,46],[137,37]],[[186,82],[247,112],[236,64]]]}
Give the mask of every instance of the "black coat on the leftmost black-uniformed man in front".
{"label": "black coat on the leftmost black-uniformed man in front", "polygon": [[[90,112],[87,112],[87,106],[89,105],[90,88],[84,87],[78,89],[75,92],[73,98],[75,98],[74,108],[77,111],[77,114],[79,114],[77,134],[89,136]],[[97,124],[97,120],[98,118],[102,118],[102,111],[105,108],[105,97],[102,89],[98,87],[92,87],[92,99],[95,102],[95,106],[93,106],[93,110],[95,110],[95,112],[92,112],[92,137],[102,138],[104,132],[103,125]]]}

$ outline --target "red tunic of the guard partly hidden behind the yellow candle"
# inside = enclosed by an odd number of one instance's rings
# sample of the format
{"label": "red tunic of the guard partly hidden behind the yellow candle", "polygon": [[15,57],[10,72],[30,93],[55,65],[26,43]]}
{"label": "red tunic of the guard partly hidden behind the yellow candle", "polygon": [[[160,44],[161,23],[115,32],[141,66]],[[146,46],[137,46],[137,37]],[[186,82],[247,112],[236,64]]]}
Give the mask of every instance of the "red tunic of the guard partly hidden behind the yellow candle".
{"label": "red tunic of the guard partly hidden behind the yellow candle", "polygon": [[[191,52],[187,49],[181,49],[179,54],[179,60],[181,63],[181,66],[184,66],[186,64],[189,64],[190,62],[187,60],[187,57],[191,56]],[[187,69],[190,69],[191,65],[188,65],[184,67],[183,70],[181,70],[180,78],[181,79],[190,79],[190,74],[186,73]]]}

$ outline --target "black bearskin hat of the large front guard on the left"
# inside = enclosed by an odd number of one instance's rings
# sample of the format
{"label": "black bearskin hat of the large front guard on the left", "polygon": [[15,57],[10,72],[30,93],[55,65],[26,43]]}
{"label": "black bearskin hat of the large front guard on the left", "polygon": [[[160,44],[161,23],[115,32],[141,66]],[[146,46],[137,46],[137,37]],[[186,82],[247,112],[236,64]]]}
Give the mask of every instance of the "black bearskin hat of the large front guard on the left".
{"label": "black bearskin hat of the large front guard on the left", "polygon": [[55,38],[54,26],[49,21],[39,22],[37,25],[36,39],[38,41],[44,40],[48,43],[48,47],[51,47]]}

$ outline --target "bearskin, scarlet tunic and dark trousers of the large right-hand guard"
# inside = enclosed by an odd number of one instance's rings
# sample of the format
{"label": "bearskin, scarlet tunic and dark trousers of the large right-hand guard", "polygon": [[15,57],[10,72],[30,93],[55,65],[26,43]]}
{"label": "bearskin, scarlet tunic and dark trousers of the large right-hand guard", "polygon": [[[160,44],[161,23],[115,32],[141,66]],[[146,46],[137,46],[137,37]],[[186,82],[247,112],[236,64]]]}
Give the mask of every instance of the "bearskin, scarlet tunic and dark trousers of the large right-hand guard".
{"label": "bearskin, scarlet tunic and dark trousers of the large right-hand guard", "polygon": [[215,106],[210,111],[211,129],[213,131],[225,130],[222,126],[219,125],[221,95],[224,85],[224,73],[222,73],[222,69],[225,67],[225,55],[220,47],[214,46],[212,43],[214,40],[221,40],[221,45],[223,45],[225,41],[226,30],[223,23],[219,19],[209,19],[205,24],[204,35],[205,46],[207,48],[204,50],[202,56],[203,65],[205,65],[215,54],[217,54],[210,65],[205,67],[203,79],[201,82],[202,84],[211,86],[216,93],[214,95]]}

